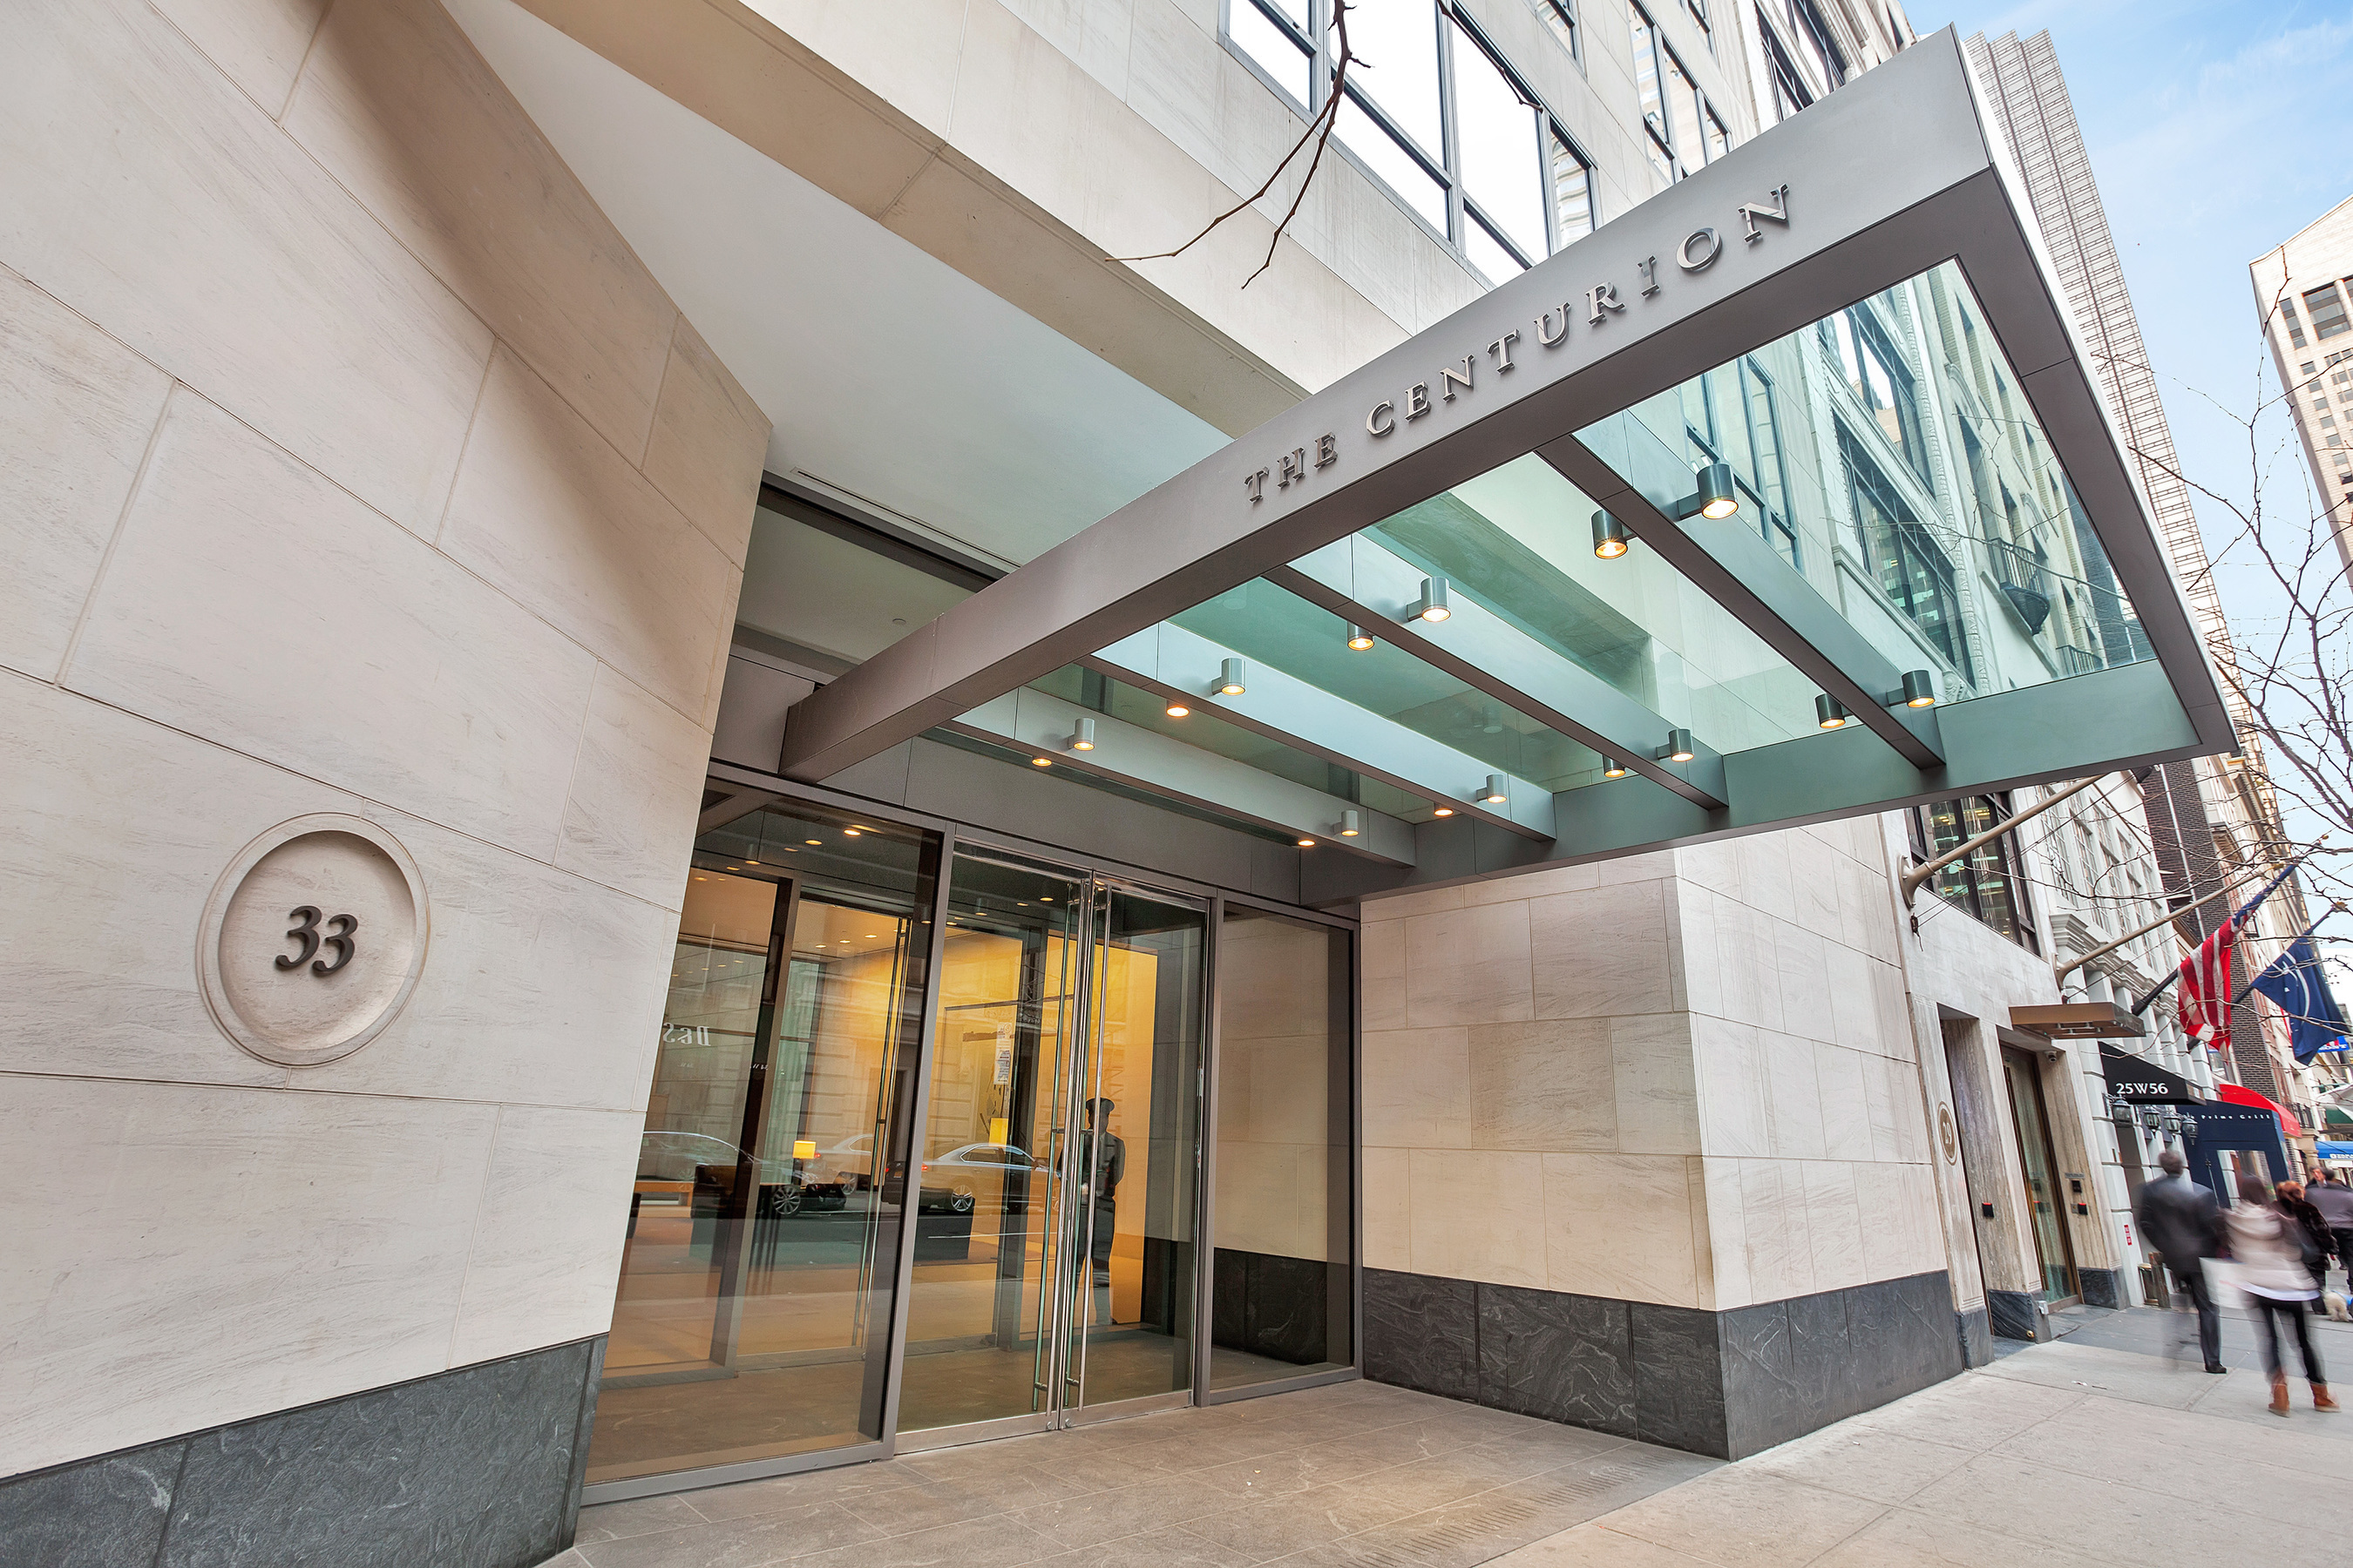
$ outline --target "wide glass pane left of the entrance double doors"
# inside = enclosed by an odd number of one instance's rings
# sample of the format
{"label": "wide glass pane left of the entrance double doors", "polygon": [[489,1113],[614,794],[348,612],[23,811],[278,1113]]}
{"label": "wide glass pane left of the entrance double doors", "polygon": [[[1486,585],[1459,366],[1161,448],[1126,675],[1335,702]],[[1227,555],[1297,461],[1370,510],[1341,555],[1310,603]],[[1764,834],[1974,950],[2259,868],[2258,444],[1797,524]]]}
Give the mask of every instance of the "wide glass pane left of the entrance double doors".
{"label": "wide glass pane left of the entrance double doors", "polygon": [[591,1483],[882,1434],[934,858],[807,806],[696,844]]}

